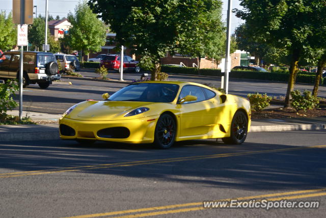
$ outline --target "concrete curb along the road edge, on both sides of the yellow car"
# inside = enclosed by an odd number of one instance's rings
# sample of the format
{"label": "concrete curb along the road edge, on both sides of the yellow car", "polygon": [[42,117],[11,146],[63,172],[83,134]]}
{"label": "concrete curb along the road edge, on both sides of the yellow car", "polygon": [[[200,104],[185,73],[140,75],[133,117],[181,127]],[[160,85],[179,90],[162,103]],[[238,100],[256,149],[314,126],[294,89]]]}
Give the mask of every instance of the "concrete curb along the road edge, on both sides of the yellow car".
{"label": "concrete curb along the road edge, on both sides of the yellow car", "polygon": [[[25,125],[26,126],[26,125]],[[59,126],[48,127],[41,132],[32,130],[38,125],[31,125],[25,132],[17,131],[10,133],[0,133],[0,142],[17,141],[37,141],[37,140],[59,140]],[[40,125],[41,126],[41,125]],[[17,128],[14,128],[19,129]],[[293,131],[293,130],[321,130],[326,129],[326,124],[291,124],[291,125],[270,125],[270,126],[251,126],[250,132],[270,132],[270,131]],[[38,132],[38,134],[35,134]]]}

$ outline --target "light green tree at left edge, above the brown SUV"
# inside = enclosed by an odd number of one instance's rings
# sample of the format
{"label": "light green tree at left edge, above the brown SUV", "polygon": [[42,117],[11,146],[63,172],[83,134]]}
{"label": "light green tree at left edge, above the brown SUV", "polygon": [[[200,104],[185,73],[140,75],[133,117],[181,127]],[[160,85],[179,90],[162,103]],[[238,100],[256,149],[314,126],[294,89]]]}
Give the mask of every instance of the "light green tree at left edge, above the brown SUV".
{"label": "light green tree at left edge, above the brown SUV", "polygon": [[0,13],[0,49],[10,50],[17,43],[17,28],[12,22],[11,13]]}

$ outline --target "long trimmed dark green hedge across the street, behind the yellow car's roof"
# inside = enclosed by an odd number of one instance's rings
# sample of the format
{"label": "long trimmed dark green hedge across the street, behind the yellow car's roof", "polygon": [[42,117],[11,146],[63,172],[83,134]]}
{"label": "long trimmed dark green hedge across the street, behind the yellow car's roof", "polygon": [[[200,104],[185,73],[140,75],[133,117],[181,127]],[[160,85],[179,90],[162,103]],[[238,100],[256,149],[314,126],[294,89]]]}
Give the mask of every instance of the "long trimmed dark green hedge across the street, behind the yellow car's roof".
{"label": "long trimmed dark green hedge across the street, behind the yellow car's roof", "polygon": [[[161,71],[171,74],[193,74],[198,75],[198,69],[193,67],[175,67],[166,66],[161,67]],[[208,76],[222,76],[221,70],[218,69],[200,69],[200,75]],[[257,72],[257,71],[231,71],[229,76],[231,78],[246,78],[246,79],[261,79],[261,80],[271,80],[271,81],[285,81],[288,82],[289,74],[281,72]],[[296,83],[315,83],[315,74],[297,74]],[[326,79],[321,78],[321,84],[326,85]]]}

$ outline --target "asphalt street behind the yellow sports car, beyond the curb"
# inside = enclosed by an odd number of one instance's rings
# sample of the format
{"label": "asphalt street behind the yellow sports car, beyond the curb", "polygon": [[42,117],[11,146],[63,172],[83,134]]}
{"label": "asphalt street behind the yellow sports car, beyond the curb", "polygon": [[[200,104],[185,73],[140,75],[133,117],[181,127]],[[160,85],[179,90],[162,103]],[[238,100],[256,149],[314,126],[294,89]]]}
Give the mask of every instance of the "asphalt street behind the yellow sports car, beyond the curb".
{"label": "asphalt street behind the yellow sports car, beyond the curb", "polygon": [[[85,70],[84,70],[85,71]],[[82,72],[84,76],[98,77],[93,72]],[[124,79],[134,80],[140,78],[140,73],[126,73]],[[119,79],[120,74],[110,72],[108,77]],[[170,80],[193,81],[214,87],[221,86],[220,77],[197,77],[186,75],[170,75]],[[30,85],[23,90],[23,110],[31,112],[42,112],[51,114],[63,114],[70,106],[86,99],[101,100],[102,94],[108,92],[113,94],[127,84],[107,83],[102,81],[78,80],[74,78],[63,78],[68,83],[53,83],[46,90],[38,85]],[[267,93],[270,96],[284,96],[286,94],[286,83],[274,83],[270,81],[240,80],[230,78],[229,93],[246,97],[248,93]],[[312,90],[311,85],[296,85],[295,89]],[[319,88],[319,97],[326,98],[326,87]],[[15,100],[18,101],[19,94]]]}

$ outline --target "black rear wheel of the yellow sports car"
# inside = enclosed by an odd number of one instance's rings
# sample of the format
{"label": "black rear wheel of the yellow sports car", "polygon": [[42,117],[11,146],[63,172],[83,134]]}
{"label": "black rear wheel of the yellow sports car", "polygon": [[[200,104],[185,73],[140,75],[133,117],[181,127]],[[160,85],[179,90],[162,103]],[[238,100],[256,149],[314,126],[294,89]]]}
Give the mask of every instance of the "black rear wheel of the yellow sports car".
{"label": "black rear wheel of the yellow sports car", "polygon": [[248,119],[246,114],[242,111],[235,112],[231,127],[230,127],[230,137],[222,138],[225,144],[235,144],[239,145],[244,142],[247,138],[248,133]]}

